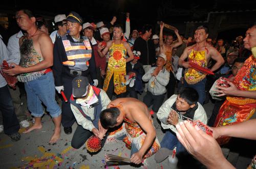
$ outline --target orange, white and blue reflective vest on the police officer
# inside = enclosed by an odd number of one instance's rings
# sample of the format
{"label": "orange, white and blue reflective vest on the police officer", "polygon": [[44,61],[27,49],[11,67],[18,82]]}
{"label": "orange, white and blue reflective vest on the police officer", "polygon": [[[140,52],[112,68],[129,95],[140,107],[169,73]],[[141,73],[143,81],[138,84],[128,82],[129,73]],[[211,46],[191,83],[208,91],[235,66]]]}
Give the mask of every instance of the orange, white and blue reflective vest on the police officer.
{"label": "orange, white and blue reflective vest on the police officer", "polygon": [[62,64],[71,70],[86,71],[89,67],[89,60],[92,58],[89,39],[83,37],[83,42],[71,42],[67,36],[62,36],[61,39],[68,58],[68,61]]}

